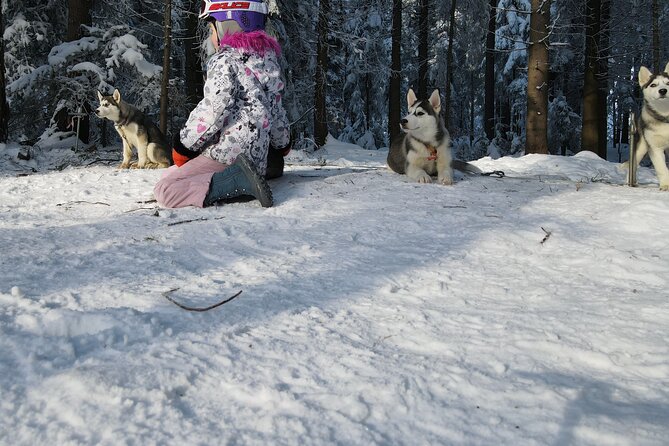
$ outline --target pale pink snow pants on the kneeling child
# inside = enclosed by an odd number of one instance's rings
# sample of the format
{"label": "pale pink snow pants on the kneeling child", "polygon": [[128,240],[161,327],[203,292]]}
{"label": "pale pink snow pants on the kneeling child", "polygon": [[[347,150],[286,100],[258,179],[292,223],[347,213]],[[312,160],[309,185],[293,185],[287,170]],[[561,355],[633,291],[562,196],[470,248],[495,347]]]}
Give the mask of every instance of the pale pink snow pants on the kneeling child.
{"label": "pale pink snow pants on the kneeling child", "polygon": [[203,207],[211,177],[226,164],[200,155],[183,164],[171,166],[153,188],[158,204],[164,208]]}

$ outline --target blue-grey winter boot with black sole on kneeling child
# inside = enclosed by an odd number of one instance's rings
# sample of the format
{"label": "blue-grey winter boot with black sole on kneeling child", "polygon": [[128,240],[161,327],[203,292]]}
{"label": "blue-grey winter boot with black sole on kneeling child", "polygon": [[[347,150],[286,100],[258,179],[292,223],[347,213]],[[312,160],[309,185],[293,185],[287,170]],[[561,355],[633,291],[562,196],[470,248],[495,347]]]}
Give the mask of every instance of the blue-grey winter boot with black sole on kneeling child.
{"label": "blue-grey winter boot with black sole on kneeling child", "polygon": [[274,204],[272,190],[251,164],[246,155],[239,155],[237,160],[223,172],[217,172],[211,178],[209,192],[204,198],[204,205],[211,206],[219,200],[251,196],[260,201],[264,208]]}

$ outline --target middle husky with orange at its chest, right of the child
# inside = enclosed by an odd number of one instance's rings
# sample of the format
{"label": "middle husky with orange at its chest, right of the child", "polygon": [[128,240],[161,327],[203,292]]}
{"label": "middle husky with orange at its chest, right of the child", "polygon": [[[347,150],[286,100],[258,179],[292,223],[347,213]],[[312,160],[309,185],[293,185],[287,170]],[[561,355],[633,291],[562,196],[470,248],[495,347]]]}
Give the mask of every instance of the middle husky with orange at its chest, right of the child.
{"label": "middle husky with orange at its chest, right of the child", "polygon": [[391,142],[388,167],[419,183],[431,183],[431,175],[437,175],[437,181],[446,185],[453,184],[454,167],[481,173],[471,164],[453,160],[451,138],[439,116],[439,90],[434,90],[429,99],[419,100],[410,89],[407,105],[409,113],[400,122],[403,134]]}

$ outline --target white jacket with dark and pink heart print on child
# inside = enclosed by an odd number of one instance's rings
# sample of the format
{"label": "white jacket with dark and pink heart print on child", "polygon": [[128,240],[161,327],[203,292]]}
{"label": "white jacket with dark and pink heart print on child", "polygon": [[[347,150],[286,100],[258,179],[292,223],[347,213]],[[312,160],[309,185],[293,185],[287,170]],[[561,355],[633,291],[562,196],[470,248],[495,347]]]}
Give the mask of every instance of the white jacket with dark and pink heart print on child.
{"label": "white jacket with dark and pink heart print on child", "polygon": [[264,175],[270,143],[283,148],[290,142],[283,87],[274,51],[223,46],[207,65],[204,98],[181,130],[181,142],[227,165],[245,153]]}

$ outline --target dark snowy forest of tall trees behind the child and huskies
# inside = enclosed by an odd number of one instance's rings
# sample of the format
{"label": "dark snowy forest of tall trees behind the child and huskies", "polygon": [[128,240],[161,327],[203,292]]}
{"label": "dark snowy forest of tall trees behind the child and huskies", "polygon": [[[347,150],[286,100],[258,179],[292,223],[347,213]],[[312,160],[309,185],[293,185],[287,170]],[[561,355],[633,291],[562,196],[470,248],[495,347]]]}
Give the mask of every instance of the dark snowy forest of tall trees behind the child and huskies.
{"label": "dark snowy forest of tall trees behind the child and huskies", "polygon": [[[316,149],[328,134],[387,147],[408,88],[439,88],[460,158],[591,150],[618,161],[639,105],[639,67],[658,72],[669,61],[664,0],[269,4],[298,149]],[[0,142],[48,150],[78,132],[71,151],[113,144],[112,126],[92,110],[97,90],[115,88],[169,137],[178,133],[202,91],[199,6],[2,1]]]}

